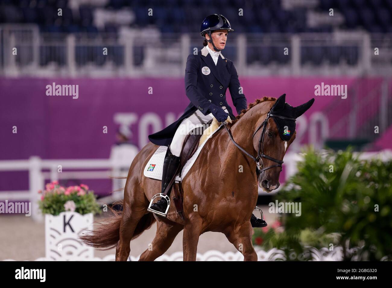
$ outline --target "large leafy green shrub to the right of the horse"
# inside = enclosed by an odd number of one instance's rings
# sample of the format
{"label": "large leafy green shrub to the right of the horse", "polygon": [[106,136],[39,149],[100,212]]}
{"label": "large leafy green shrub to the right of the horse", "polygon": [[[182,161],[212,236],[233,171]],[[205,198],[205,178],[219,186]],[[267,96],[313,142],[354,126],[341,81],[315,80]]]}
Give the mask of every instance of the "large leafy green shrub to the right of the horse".
{"label": "large leafy green shrub to the right of the horse", "polygon": [[349,260],[346,249],[359,246],[359,260],[392,259],[391,183],[391,160],[361,161],[350,149],[324,156],[310,149],[276,194],[279,202],[301,202],[301,216],[283,214],[283,232],[258,231],[254,239],[264,237],[264,248],[286,252],[339,245]]}

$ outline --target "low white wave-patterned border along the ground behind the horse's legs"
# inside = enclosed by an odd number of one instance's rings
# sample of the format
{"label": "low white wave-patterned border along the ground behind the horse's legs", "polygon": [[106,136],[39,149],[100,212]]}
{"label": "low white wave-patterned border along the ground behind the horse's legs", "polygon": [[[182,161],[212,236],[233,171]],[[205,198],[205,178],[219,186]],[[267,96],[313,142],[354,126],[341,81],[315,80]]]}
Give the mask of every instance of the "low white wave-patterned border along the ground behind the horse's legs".
{"label": "low white wave-patterned border along the ground behind the horse's legs", "polygon": [[[302,254],[296,255],[295,252],[289,254],[287,259],[285,252],[277,248],[272,248],[268,251],[257,250],[256,253],[258,261],[287,261],[287,260],[304,260],[310,257],[311,261],[342,261],[343,260],[343,248],[335,246],[334,250],[328,248],[321,248],[320,250],[306,246],[307,249]],[[358,257],[356,252],[359,250],[358,247],[350,248],[346,251],[347,255],[350,255],[352,261],[357,261]],[[129,256],[127,261],[138,261],[140,255],[137,257]],[[107,255],[103,258],[94,257],[93,259],[75,259],[75,261],[115,261],[116,255]],[[210,250],[203,254],[198,253],[196,255],[196,261],[243,261],[244,257],[241,252],[220,252],[217,250]],[[6,259],[4,261],[15,261],[13,259]],[[38,258],[35,261],[53,261],[45,257]],[[183,261],[183,252],[175,252],[172,255],[162,255],[156,259],[156,261]],[[387,261],[387,257],[381,259],[381,261]]]}

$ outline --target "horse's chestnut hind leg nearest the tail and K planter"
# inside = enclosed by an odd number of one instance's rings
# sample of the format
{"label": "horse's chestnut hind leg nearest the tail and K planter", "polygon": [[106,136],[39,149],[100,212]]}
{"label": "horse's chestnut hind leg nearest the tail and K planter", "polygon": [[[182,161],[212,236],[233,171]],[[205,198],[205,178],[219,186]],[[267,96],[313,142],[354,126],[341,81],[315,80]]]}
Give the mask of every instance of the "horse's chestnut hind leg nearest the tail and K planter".
{"label": "horse's chestnut hind leg nearest the tail and K planter", "polygon": [[139,220],[147,212],[148,202],[144,193],[140,191],[140,186],[134,181],[129,181],[124,189],[124,202],[122,219],[120,224],[120,240],[116,247],[116,261],[127,261],[131,248],[133,233]]}

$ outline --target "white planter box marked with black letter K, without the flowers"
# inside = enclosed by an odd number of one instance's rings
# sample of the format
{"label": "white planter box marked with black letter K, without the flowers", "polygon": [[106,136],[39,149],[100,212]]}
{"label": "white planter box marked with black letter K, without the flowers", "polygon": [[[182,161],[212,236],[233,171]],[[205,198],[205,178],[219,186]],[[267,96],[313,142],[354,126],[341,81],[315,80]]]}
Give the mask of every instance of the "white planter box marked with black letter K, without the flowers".
{"label": "white planter box marked with black letter K, without the flowers", "polygon": [[45,214],[45,255],[56,261],[92,260],[94,248],[84,245],[79,236],[93,230],[93,213],[61,212]]}

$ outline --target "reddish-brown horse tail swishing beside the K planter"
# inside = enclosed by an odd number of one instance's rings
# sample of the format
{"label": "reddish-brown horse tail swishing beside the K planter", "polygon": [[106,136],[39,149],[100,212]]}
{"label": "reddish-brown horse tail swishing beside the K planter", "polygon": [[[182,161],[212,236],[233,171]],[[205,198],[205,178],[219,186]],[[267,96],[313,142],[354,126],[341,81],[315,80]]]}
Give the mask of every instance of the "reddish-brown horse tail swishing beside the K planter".
{"label": "reddish-brown horse tail swishing beside the K planter", "polygon": [[[122,203],[123,200],[120,200],[116,201],[114,205],[122,205]],[[94,231],[89,231],[88,234],[80,236],[83,243],[98,248],[99,250],[109,250],[117,246],[117,243],[120,240],[122,211],[114,210],[113,208],[110,209],[114,215],[101,222],[96,221],[95,223],[97,223],[98,226],[94,228]],[[140,236],[144,230],[149,229],[151,225],[154,224],[155,220],[152,213],[143,215],[136,225],[132,239]]]}

